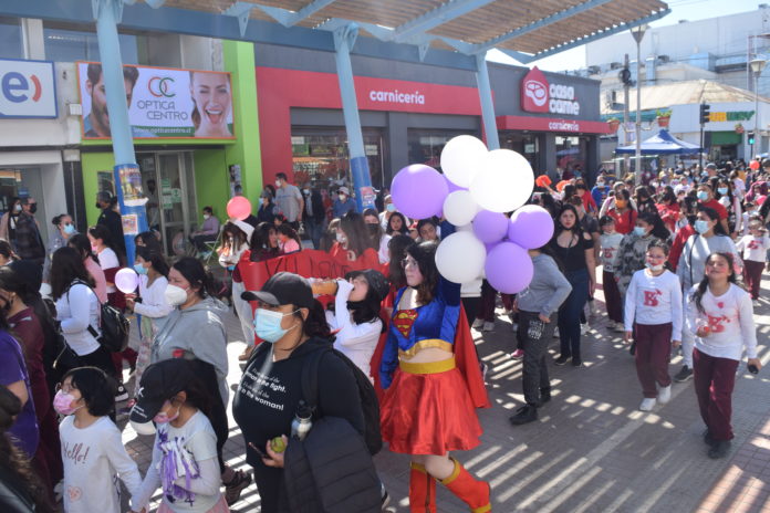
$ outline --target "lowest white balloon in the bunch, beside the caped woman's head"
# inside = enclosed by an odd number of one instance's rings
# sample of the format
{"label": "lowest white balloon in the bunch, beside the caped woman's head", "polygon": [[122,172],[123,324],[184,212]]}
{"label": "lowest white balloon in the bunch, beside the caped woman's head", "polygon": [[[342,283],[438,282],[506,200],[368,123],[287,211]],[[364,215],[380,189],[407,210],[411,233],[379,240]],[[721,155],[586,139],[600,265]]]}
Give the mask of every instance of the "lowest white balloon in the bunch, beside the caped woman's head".
{"label": "lowest white balloon in the bunch, beside the caped woman's head", "polygon": [[487,251],[471,232],[455,232],[441,240],[436,250],[436,266],[454,283],[468,283],[483,272]]}

